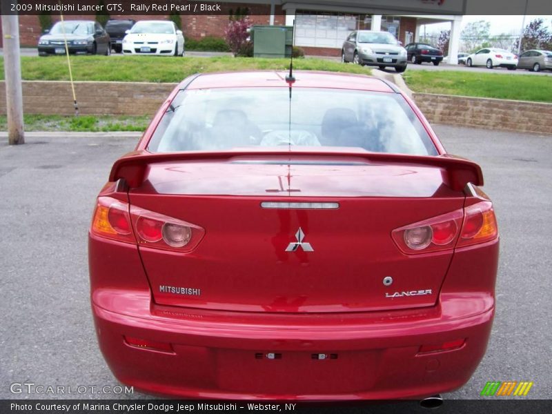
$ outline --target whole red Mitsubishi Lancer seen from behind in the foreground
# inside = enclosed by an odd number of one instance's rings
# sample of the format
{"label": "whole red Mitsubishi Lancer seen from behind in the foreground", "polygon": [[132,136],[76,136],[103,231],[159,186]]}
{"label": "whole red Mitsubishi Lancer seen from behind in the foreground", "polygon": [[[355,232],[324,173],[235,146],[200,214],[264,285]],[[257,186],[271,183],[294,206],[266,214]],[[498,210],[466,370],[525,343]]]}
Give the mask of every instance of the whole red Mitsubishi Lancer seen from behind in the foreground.
{"label": "whole red Mitsubishi Lancer seen from behind in the foreground", "polygon": [[112,166],[89,233],[108,365],[177,397],[462,386],[495,310],[480,167],[391,83],[293,75],[189,77]]}

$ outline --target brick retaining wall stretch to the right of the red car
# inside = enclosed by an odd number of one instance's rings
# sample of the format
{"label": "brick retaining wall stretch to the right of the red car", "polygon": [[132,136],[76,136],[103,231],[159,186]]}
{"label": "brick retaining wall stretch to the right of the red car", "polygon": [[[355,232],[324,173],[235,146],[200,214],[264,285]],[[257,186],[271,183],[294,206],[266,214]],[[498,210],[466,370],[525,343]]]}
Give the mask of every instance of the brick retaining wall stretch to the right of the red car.
{"label": "brick retaining wall stretch to the right of the red car", "polygon": [[414,93],[428,121],[551,135],[552,103]]}

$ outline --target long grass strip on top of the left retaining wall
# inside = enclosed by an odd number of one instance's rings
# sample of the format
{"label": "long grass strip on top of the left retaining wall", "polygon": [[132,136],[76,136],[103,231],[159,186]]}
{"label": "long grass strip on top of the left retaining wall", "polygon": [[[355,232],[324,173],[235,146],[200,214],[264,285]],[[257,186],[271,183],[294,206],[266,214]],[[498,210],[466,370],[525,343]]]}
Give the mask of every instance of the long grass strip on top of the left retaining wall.
{"label": "long grass strip on top of the left retaining wall", "polygon": [[[72,56],[71,63],[75,81],[179,82],[197,72],[289,68],[289,59],[246,57]],[[324,59],[294,59],[293,68],[365,75],[371,72],[367,67]],[[21,57],[21,75],[28,81],[68,81],[67,59],[64,56]],[[2,70],[0,79],[3,76]]]}

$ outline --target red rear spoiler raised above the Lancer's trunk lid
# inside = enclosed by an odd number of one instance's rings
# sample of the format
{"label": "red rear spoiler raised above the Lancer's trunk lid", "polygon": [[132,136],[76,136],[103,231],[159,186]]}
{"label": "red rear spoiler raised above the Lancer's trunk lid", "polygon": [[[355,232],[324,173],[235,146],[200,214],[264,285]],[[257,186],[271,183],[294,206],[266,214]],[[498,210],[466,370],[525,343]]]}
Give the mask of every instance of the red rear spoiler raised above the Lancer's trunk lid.
{"label": "red rear spoiler raised above the Lancer's trunk lid", "polygon": [[461,191],[466,184],[483,185],[483,173],[480,166],[469,159],[445,154],[437,157],[425,155],[386,154],[381,152],[312,152],[301,150],[239,150],[224,152],[161,152],[151,153],[145,150],[128,152],[113,164],[109,181],[124,179],[130,188],[141,186],[150,164],[170,161],[228,161],[237,157],[339,157],[361,158],[375,163],[393,163],[404,165],[431,166],[441,168],[445,174],[444,182],[453,190]]}

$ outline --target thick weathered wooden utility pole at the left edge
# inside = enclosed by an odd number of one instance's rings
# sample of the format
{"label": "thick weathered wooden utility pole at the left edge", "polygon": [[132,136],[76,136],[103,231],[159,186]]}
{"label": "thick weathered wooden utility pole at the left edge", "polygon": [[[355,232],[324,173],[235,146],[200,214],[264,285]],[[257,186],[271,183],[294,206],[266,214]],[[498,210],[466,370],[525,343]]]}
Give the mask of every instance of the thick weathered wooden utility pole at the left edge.
{"label": "thick weathered wooden utility pole at the left edge", "polygon": [[[10,1],[1,0],[2,10],[10,10]],[[19,18],[17,14],[2,14],[4,74],[6,77],[6,112],[8,144],[25,143],[23,132],[23,91],[21,90],[21,59],[19,59]]]}

